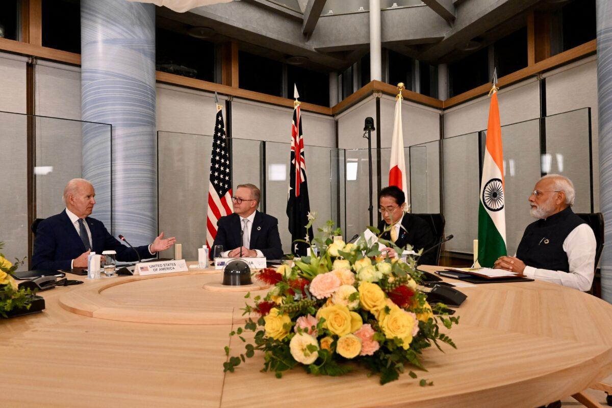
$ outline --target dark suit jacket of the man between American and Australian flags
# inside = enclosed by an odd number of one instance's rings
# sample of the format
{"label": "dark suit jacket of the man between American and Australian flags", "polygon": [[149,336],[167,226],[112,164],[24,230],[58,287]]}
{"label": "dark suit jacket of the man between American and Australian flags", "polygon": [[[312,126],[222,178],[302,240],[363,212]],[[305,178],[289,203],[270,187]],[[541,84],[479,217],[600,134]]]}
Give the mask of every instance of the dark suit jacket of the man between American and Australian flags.
{"label": "dark suit jacket of the man between American and Australian flags", "polygon": [[[238,214],[233,213],[219,218],[217,237],[212,243],[213,248],[215,245],[223,245],[223,251],[228,251],[242,247],[241,230],[242,225]],[[261,251],[267,259],[283,258],[283,245],[280,243],[278,234],[278,220],[272,215],[255,211],[249,246],[252,250]],[[212,255],[211,251],[211,257]]]}

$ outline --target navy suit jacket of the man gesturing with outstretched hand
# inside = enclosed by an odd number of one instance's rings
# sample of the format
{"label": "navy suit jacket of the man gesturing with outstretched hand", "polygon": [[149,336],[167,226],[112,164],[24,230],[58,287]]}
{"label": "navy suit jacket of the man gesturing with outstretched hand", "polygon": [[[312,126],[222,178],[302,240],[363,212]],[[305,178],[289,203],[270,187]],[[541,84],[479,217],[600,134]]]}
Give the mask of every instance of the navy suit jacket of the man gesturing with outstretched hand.
{"label": "navy suit jacket of the man gesturing with outstretched hand", "polygon": [[[102,254],[102,251],[117,251],[118,261],[138,261],[132,248],[123,245],[106,231],[102,221],[87,217],[92,240],[92,252]],[[149,246],[136,247],[140,258],[152,258]],[[34,253],[32,254],[32,269],[70,269],[72,259],[84,253],[85,245],[76,228],[70,222],[66,211],[40,221],[36,230]]]}

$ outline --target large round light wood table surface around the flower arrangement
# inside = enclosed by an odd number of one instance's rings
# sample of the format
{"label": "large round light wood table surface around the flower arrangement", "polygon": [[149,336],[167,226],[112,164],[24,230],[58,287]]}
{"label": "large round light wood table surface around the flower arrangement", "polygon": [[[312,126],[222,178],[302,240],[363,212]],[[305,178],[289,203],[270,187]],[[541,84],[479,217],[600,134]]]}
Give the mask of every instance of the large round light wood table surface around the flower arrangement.
{"label": "large round light wood table surface around the flower arrangement", "polygon": [[[458,349],[428,349],[429,371],[414,370],[432,387],[407,374],[381,386],[362,368],[276,379],[259,372],[262,355],[224,374],[245,299],[203,289],[221,278],[190,270],[42,292],[43,313],[0,320],[0,406],[529,408],[612,373],[612,305],[535,281],[460,289],[468,299],[449,332]],[[242,343],[230,347],[239,354]]]}

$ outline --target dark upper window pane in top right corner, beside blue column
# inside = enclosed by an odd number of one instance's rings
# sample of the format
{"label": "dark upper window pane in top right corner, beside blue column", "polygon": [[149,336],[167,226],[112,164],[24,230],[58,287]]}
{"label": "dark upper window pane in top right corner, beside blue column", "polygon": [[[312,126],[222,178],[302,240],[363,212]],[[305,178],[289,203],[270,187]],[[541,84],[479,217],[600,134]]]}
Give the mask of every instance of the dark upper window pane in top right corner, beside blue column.
{"label": "dark upper window pane in top right corner, beside blue column", "polygon": [[574,0],[563,6],[563,51],[597,37],[595,0]]}

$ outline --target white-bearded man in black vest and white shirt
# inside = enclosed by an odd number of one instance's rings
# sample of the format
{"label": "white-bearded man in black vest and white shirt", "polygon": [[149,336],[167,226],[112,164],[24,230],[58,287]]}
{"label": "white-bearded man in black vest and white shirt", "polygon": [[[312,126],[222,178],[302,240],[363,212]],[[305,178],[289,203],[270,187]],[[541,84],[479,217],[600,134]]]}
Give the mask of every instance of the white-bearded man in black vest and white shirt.
{"label": "white-bearded man in black vest and white shirt", "polygon": [[579,291],[591,289],[597,243],[591,227],[572,211],[574,196],[567,177],[542,177],[529,196],[537,221],[525,229],[517,256],[501,256],[494,267]]}

